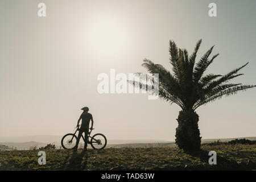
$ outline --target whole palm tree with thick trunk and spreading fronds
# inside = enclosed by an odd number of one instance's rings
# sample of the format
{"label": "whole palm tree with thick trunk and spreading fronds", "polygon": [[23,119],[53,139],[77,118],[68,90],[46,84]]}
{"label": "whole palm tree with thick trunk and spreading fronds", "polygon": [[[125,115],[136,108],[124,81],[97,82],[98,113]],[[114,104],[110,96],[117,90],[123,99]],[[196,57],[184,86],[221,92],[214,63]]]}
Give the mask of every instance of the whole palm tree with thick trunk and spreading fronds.
{"label": "whole palm tree with thick trunk and spreading fronds", "polygon": [[[148,59],[144,59],[142,64],[149,73],[159,73],[159,97],[181,107],[177,118],[178,127],[176,128],[175,143],[185,151],[200,150],[199,115],[195,111],[197,107],[220,99],[222,96],[236,94],[240,90],[256,86],[229,83],[231,79],[243,75],[238,74],[238,71],[248,63],[226,75],[205,75],[206,69],[218,54],[209,57],[213,46],[195,64],[200,44],[201,40],[197,42],[192,55],[188,56],[186,49],[178,49],[175,42],[170,40],[169,52],[172,73],[162,65],[154,64]],[[142,73],[138,74],[141,75]],[[133,85],[138,84],[141,89],[145,89],[147,86],[142,81],[129,80],[129,82]]]}

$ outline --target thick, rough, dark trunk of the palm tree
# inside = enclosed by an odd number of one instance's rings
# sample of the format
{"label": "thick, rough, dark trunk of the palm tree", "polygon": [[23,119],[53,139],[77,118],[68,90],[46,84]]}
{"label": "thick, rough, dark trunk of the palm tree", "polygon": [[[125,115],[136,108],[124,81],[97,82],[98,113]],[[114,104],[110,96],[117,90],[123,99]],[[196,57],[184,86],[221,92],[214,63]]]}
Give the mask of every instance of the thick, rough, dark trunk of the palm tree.
{"label": "thick, rough, dark trunk of the palm tree", "polygon": [[199,116],[195,111],[179,112],[175,143],[185,151],[200,150],[201,137],[198,127]]}

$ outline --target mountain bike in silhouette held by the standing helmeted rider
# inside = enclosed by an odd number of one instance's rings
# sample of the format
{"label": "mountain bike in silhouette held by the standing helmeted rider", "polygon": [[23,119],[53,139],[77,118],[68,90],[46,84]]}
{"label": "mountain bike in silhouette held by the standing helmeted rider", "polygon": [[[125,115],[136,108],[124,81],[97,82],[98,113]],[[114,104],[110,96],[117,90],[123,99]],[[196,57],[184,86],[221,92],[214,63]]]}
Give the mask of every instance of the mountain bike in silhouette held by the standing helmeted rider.
{"label": "mountain bike in silhouette held by the standing helmeted rider", "polygon": [[[77,141],[76,133],[77,131],[80,130],[79,126],[76,127],[77,129],[75,133],[73,134],[68,133],[64,135],[64,137],[61,139],[61,146],[64,149],[73,149],[76,147],[76,141]],[[106,137],[104,136],[104,134],[101,134],[101,133],[97,133],[93,135],[93,137],[90,137],[90,133],[92,133],[92,130],[89,131],[87,136],[84,136],[85,134],[82,134],[81,138],[84,140],[84,142],[85,142],[85,139],[87,139],[88,141],[87,143],[90,144],[94,150],[102,150],[103,148],[106,147],[106,143],[107,143]]]}

